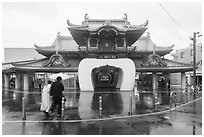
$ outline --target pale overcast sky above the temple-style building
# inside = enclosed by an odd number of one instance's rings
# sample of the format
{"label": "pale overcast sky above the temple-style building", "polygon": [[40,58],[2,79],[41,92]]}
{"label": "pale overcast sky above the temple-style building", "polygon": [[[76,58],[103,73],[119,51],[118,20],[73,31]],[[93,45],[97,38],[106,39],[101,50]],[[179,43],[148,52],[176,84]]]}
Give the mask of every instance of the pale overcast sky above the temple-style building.
{"label": "pale overcast sky above the temple-style building", "polygon": [[[202,33],[202,4],[199,2],[164,3],[65,3],[65,2],[9,2],[2,3],[2,44],[3,47],[50,46],[57,36],[70,35],[67,19],[81,24],[87,13],[90,19],[122,19],[124,13],[132,25],[149,20],[147,32],[158,46],[174,49],[188,47],[193,32]],[[176,22],[175,22],[176,21]],[[198,38],[198,42],[201,38]]]}

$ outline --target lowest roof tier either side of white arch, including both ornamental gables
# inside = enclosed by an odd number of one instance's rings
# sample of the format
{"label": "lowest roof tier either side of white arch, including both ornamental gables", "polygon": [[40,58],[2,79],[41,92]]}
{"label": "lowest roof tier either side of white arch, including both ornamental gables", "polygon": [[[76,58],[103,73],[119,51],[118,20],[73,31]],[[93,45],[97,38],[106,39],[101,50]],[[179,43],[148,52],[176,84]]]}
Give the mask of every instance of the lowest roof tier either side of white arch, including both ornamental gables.
{"label": "lowest roof tier either side of white arch, including both ornamental gables", "polygon": [[[61,58],[61,60],[59,60],[59,58]],[[65,59],[60,54],[54,54],[50,58],[12,63],[10,64],[11,68],[4,69],[4,72],[77,72],[80,61],[81,59]],[[133,62],[135,63],[137,72],[175,73],[193,70],[193,64],[179,63],[164,59],[156,53],[149,55],[146,60],[133,59]],[[5,67],[8,66],[8,64],[5,65]],[[198,65],[199,63],[197,63],[197,66]]]}

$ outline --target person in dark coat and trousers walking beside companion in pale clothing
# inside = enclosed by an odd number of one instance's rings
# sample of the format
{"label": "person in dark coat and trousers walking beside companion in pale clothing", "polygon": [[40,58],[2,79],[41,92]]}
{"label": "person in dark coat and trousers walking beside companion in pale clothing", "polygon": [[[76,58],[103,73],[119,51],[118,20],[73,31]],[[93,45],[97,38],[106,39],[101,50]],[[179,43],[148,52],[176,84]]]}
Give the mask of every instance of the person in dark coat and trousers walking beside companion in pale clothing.
{"label": "person in dark coat and trousers walking beside companion in pale clothing", "polygon": [[50,109],[50,114],[54,112],[55,107],[58,105],[57,116],[61,117],[61,109],[62,109],[62,91],[64,90],[64,85],[61,83],[62,78],[57,77],[57,81],[53,82],[50,89],[50,96],[52,97],[53,103]]}

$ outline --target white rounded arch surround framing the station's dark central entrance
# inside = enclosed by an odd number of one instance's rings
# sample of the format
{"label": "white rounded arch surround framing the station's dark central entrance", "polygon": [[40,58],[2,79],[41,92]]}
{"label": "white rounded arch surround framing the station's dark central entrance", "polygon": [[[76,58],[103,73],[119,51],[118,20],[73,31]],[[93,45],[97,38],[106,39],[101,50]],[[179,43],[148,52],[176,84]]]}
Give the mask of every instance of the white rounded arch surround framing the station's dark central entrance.
{"label": "white rounded arch surround framing the station's dark central entrance", "polygon": [[133,90],[135,84],[135,64],[131,59],[83,59],[79,64],[78,76],[80,89],[82,91],[93,91],[93,83],[91,79],[91,71],[95,67],[110,65],[118,67],[122,70],[119,78],[120,90]]}

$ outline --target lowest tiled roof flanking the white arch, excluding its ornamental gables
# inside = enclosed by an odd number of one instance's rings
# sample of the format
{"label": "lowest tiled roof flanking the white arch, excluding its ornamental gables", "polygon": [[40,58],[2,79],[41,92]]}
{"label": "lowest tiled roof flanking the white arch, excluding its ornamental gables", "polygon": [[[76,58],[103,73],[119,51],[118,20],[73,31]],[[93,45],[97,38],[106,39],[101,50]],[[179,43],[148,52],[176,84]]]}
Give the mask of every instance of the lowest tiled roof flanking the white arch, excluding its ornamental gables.
{"label": "lowest tiled roof flanking the white arch, excluding its ornamental gables", "polygon": [[[70,67],[44,67],[44,64],[48,62],[47,59],[37,60],[35,62],[26,62],[19,64],[13,64],[12,69],[14,70],[27,70],[27,71],[36,71],[36,72],[57,72],[57,71],[78,71],[78,65],[76,63],[72,63]],[[136,69],[138,72],[185,72],[192,71],[193,67],[191,64],[178,63],[168,59],[162,59],[167,66],[138,66],[136,65]],[[197,64],[198,65],[198,64]],[[6,71],[5,71],[6,72]]]}

